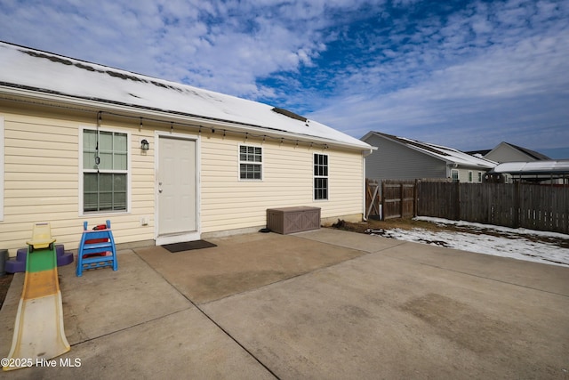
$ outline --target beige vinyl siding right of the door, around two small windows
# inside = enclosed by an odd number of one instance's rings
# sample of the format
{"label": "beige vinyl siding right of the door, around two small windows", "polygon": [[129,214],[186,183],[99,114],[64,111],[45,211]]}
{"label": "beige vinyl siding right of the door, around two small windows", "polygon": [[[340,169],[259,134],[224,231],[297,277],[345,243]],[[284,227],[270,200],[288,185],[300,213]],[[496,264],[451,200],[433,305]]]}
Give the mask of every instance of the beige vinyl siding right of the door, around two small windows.
{"label": "beige vinyl siding right of the door, around two small windows", "polygon": [[[260,146],[262,181],[240,181],[238,147]],[[290,141],[227,136],[202,138],[202,232],[264,226],[266,210],[284,206],[317,206],[322,217],[361,214],[363,159],[359,152],[295,146]],[[329,199],[313,199],[313,156],[329,158]]]}

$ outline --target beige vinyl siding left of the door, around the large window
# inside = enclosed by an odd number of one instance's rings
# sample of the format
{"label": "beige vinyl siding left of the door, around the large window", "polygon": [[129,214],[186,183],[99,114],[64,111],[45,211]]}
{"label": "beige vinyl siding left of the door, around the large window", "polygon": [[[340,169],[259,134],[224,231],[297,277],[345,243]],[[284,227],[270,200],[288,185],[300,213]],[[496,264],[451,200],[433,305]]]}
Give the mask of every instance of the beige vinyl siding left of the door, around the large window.
{"label": "beige vinyl siding left of the door, around the large window", "polygon": [[[78,141],[81,127],[96,128],[95,114],[90,116],[44,113],[29,107],[0,114],[5,133],[0,248],[11,249],[11,255],[16,248],[26,247],[35,222],[50,222],[56,243],[66,249],[76,249],[84,221],[92,226],[110,219],[118,243],[154,239],[153,150],[140,153],[140,140],[150,140],[154,131],[139,132],[132,128],[135,123],[103,120],[106,128],[131,133],[131,212],[82,215]],[[148,217],[148,226],[140,226],[142,216]]]}

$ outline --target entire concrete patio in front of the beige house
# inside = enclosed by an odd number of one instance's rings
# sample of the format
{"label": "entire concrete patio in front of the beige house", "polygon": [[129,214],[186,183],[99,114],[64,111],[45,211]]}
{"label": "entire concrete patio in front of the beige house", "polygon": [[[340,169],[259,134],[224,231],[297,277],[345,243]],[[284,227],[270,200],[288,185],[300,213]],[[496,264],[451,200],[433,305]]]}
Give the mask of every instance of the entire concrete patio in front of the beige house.
{"label": "entire concrete patio in front of the beige house", "polygon": [[210,241],[60,267],[68,361],[4,378],[569,378],[568,268],[327,229]]}

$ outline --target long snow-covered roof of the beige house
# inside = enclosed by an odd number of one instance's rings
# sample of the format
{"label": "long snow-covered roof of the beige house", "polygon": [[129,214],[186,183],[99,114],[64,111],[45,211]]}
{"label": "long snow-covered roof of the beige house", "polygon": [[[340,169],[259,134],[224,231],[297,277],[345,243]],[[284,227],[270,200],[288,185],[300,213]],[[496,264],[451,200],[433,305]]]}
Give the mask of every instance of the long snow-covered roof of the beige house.
{"label": "long snow-covered roof of the beige house", "polygon": [[[0,88],[15,87],[78,99],[292,133],[361,150],[372,147],[346,133],[283,109],[190,85],[0,42]],[[102,106],[102,104],[101,104]]]}

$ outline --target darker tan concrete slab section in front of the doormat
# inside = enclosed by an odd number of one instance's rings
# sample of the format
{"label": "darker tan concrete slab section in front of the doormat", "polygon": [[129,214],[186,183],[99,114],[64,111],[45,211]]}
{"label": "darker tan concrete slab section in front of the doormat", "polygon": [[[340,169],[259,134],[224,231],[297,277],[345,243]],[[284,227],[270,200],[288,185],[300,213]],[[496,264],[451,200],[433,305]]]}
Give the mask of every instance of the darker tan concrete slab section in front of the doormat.
{"label": "darker tan concrete slab section in front of the doormat", "polygon": [[365,254],[276,233],[208,241],[217,247],[174,254],[162,247],[135,251],[194,303],[212,302]]}

